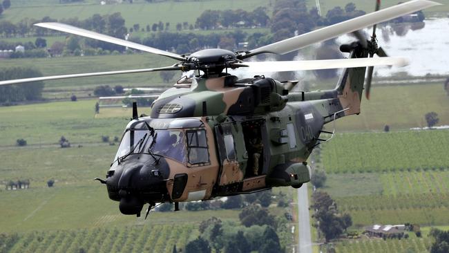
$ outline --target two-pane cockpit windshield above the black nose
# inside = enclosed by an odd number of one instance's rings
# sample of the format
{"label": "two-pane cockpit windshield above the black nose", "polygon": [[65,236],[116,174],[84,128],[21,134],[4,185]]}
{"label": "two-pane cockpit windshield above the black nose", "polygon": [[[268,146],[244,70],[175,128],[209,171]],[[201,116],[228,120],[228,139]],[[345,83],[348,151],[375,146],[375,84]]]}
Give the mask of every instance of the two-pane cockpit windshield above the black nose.
{"label": "two-pane cockpit windshield above the black nose", "polygon": [[156,130],[151,135],[148,129],[129,129],[123,135],[115,160],[129,153],[151,153],[185,163],[187,162],[187,152],[184,132]]}

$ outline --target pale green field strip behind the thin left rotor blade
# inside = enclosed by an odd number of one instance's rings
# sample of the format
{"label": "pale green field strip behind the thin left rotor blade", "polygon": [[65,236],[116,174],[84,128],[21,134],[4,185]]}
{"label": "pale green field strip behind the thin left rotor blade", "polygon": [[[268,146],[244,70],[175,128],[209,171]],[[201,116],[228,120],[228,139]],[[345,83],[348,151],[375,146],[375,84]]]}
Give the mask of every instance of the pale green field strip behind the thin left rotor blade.
{"label": "pale green field strip behind the thin left rotor blade", "polygon": [[[85,57],[55,57],[33,59],[8,59],[2,61],[2,67],[32,66],[45,75],[64,75],[102,71],[120,71],[135,68],[153,68],[171,66],[174,60],[150,53],[133,55],[104,55]],[[181,75],[181,72],[178,74]],[[164,85],[160,73],[140,73],[133,75],[114,75],[104,77],[83,77],[46,81],[46,89],[64,89],[76,91],[80,88],[108,84],[111,86],[161,86]]]}

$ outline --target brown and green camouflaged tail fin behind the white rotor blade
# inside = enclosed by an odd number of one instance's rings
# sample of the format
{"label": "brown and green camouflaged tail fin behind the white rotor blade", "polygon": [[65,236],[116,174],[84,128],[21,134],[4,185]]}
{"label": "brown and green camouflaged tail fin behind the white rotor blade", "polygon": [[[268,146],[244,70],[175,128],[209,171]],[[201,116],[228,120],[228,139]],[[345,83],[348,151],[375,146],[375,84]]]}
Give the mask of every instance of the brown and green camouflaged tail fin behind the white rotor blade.
{"label": "brown and green camouflaged tail fin behind the white rotor blade", "polygon": [[[350,58],[363,58],[367,57],[367,55],[367,50],[364,50],[360,45],[352,46],[350,49]],[[345,115],[360,113],[365,71],[366,67],[345,68],[338,80],[336,86],[337,97],[342,108],[347,109]]]}

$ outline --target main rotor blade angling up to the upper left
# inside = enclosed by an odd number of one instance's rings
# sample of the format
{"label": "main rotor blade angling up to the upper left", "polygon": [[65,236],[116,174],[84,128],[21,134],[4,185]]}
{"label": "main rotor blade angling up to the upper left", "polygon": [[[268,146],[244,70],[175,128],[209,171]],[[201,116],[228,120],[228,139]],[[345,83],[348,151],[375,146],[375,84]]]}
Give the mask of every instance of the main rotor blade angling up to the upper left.
{"label": "main rotor blade angling up to the upper left", "polygon": [[39,23],[39,24],[35,24],[35,26],[39,26],[39,27],[43,27],[43,28],[48,28],[48,29],[52,29],[52,30],[59,30],[61,32],[68,32],[71,33],[73,35],[79,35],[79,36],[83,36],[83,37],[88,37],[90,39],[98,39],[101,41],[106,41],[112,44],[117,44],[120,46],[127,46],[128,48],[134,48],[137,50],[142,50],[144,52],[148,52],[148,53],[153,53],[156,55],[164,55],[167,57],[171,57],[173,59],[178,59],[180,61],[184,61],[185,58],[182,57],[181,55],[177,55],[175,53],[170,53],[170,52],[166,52],[164,50],[160,50],[157,48],[152,48],[151,46],[144,46],[142,44],[137,44],[135,42],[131,42],[131,41],[126,41],[124,39],[118,39],[116,37],[111,37],[109,35],[102,35],[98,32],[93,32],[90,30],[85,30],[82,28],[77,28],[75,26],[69,26],[66,24],[61,24],[61,23]]}

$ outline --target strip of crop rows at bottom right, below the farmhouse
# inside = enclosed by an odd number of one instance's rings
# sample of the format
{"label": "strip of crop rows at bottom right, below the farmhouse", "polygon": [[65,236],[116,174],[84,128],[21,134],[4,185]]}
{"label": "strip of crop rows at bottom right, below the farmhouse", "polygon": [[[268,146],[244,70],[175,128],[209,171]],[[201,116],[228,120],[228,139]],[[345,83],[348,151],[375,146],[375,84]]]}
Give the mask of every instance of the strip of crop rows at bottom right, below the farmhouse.
{"label": "strip of crop rows at bottom right, below the farmhouse", "polygon": [[402,240],[382,240],[378,238],[343,241],[336,244],[337,253],[397,253],[428,252],[432,240],[430,238],[407,238]]}

